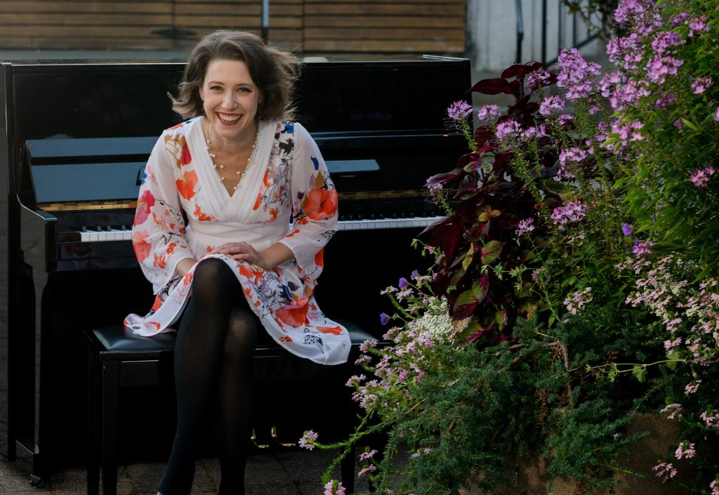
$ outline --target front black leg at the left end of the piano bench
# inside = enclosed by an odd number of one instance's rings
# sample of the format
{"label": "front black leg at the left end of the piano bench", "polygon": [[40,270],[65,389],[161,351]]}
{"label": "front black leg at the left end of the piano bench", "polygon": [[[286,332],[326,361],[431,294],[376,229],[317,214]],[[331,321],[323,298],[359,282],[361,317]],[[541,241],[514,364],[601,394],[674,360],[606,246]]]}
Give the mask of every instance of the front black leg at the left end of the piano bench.
{"label": "front black leg at the left end of the piano bench", "polygon": [[117,414],[120,393],[120,363],[102,363],[102,490],[103,495],[117,494]]}

